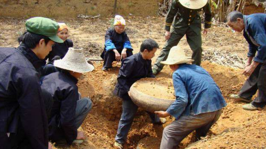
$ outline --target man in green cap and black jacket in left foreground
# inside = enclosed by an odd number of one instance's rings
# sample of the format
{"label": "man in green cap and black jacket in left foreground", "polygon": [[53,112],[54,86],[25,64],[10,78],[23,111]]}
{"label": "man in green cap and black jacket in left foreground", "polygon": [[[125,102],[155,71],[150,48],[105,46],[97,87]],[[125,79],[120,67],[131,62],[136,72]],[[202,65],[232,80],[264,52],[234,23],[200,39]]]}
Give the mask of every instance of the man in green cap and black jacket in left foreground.
{"label": "man in green cap and black jacket in left foreground", "polygon": [[50,149],[48,113],[53,100],[40,88],[37,69],[52,50],[57,22],[34,17],[18,38],[18,48],[0,48],[0,144],[4,149]]}

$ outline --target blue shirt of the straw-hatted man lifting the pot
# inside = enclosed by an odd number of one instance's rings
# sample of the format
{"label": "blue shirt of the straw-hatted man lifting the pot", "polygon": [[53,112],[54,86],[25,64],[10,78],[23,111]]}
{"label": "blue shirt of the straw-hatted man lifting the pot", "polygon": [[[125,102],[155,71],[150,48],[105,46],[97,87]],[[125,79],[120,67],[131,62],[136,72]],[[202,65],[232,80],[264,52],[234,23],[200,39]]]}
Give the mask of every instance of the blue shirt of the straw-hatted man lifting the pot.
{"label": "blue shirt of the straw-hatted man lifting the pot", "polygon": [[173,73],[176,100],[167,112],[178,119],[188,116],[217,111],[226,106],[222,93],[209,73],[197,65],[181,64]]}

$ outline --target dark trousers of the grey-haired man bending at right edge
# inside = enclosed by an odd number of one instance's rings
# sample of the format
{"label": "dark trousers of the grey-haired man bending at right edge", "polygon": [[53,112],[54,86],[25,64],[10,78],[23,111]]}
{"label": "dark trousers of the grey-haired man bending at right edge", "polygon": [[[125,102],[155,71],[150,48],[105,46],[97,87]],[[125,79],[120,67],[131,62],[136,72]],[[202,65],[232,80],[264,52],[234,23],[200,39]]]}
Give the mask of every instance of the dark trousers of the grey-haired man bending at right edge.
{"label": "dark trousers of the grey-haired man bending at right edge", "polygon": [[266,60],[260,63],[242,86],[239,96],[251,99],[258,90],[258,97],[252,101],[255,107],[266,105]]}

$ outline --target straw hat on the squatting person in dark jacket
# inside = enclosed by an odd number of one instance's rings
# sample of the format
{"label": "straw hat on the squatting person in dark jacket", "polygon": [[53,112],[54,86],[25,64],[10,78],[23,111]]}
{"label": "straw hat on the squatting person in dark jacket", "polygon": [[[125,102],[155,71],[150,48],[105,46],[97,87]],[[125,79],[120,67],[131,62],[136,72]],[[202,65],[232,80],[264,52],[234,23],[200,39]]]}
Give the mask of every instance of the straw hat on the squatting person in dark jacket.
{"label": "straw hat on the squatting person in dark jacket", "polygon": [[94,70],[82,52],[82,49],[69,48],[67,54],[62,60],[55,60],[54,66],[65,70],[71,70],[78,73],[86,73]]}

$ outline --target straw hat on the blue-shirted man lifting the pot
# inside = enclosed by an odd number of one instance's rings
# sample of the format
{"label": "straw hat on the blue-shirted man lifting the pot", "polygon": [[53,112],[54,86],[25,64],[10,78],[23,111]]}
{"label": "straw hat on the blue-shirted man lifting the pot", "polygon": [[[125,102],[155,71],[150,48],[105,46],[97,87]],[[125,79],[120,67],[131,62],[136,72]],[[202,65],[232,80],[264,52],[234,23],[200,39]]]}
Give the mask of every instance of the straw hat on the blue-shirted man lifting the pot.
{"label": "straw hat on the blue-shirted man lifting the pot", "polygon": [[173,46],[169,52],[169,55],[165,61],[161,63],[164,65],[175,65],[193,62],[191,57],[187,57],[185,51],[178,46]]}

